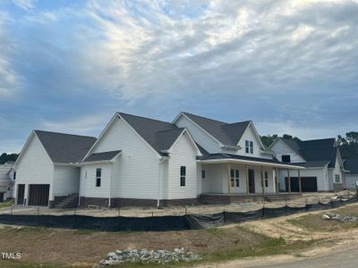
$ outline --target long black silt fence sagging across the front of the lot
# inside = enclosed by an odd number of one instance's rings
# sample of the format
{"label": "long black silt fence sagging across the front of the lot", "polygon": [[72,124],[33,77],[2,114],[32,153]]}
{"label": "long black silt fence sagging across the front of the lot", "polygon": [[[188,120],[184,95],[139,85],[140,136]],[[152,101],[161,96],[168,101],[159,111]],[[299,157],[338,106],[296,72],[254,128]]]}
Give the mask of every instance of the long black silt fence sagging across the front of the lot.
{"label": "long black silt fence sagging across the front of the lot", "polygon": [[145,218],[135,217],[91,217],[82,215],[11,215],[0,214],[0,223],[38,226],[63,229],[84,229],[102,231],[142,230],[198,230],[214,228],[227,223],[255,221],[259,219],[275,218],[288,214],[299,214],[336,208],[357,202],[353,197],[344,200],[331,200],[328,203],[307,204],[301,207],[282,206],[276,208],[262,207],[250,212],[222,212],[218,214],[187,214],[183,216],[153,216]]}

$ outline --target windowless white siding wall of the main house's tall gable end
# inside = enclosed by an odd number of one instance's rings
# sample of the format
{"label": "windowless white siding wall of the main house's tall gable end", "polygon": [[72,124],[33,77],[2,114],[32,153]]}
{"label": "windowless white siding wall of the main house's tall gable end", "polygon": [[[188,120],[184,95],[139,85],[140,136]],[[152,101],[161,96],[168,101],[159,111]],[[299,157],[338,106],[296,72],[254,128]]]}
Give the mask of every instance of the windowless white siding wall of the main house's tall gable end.
{"label": "windowless white siding wall of the main house's tall gable end", "polygon": [[122,154],[113,164],[111,197],[157,199],[159,155],[119,117],[91,153],[114,150],[122,150]]}

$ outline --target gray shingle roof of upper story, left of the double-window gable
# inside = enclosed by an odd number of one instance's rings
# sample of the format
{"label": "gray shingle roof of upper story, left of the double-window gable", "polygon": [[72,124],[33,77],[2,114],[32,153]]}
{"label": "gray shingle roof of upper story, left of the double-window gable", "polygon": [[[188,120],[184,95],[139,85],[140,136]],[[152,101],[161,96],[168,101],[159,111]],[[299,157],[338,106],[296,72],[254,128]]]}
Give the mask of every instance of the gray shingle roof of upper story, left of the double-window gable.
{"label": "gray shingle roof of upper story, left of the double-window gable", "polygon": [[203,130],[206,130],[211,136],[217,138],[222,144],[227,146],[236,146],[243,137],[243,132],[247,129],[251,121],[242,121],[235,123],[227,123],[224,121],[217,121],[195,115],[192,113],[183,113],[192,121],[200,125]]}

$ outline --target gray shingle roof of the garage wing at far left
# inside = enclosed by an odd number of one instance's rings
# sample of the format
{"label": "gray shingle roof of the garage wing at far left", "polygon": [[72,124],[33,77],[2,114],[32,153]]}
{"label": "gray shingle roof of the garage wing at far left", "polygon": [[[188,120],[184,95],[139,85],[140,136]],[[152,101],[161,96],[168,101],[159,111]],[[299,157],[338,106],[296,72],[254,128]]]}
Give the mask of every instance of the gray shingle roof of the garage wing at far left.
{"label": "gray shingle roof of the garage wing at far left", "polygon": [[54,163],[81,162],[97,138],[34,130]]}

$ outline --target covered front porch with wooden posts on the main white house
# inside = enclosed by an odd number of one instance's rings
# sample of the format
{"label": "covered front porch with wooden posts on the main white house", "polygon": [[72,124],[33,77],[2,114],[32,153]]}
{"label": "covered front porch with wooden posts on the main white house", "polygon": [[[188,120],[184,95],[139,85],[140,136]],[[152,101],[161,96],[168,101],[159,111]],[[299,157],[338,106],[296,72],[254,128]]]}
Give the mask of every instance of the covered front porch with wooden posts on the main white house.
{"label": "covered front porch with wooden posts on the main white house", "polygon": [[[239,158],[240,157],[240,158]],[[237,158],[200,160],[201,196],[255,197],[301,194],[301,170],[304,167],[237,155]],[[279,174],[288,180],[282,185]],[[297,180],[290,175],[298,174]],[[297,185],[296,185],[297,184]]]}

